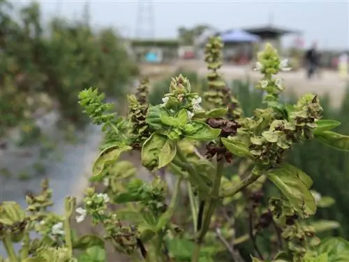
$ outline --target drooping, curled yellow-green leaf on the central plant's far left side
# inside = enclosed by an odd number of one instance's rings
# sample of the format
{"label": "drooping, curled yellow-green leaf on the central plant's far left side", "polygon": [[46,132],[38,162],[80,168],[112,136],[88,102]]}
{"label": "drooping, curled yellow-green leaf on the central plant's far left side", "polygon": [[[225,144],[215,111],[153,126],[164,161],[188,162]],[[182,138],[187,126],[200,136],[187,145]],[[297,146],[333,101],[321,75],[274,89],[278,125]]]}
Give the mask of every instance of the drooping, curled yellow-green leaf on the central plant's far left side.
{"label": "drooping, curled yellow-green leaf on the central plant's far left side", "polygon": [[93,176],[90,178],[90,181],[94,182],[101,180],[105,168],[114,164],[123,152],[129,150],[132,150],[132,147],[128,145],[125,145],[124,147],[119,147],[119,145],[112,145],[105,148],[105,150],[103,150],[101,154],[99,154],[97,160],[94,162],[94,166],[92,167]]}

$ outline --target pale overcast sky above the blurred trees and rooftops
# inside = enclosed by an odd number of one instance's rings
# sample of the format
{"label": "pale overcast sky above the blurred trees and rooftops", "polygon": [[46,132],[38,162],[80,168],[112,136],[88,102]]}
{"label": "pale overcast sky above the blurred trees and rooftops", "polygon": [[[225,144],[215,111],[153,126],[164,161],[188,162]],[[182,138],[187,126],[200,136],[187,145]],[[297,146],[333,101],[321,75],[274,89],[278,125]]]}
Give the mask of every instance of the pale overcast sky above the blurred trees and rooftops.
{"label": "pale overcast sky above the blurred trees and rooftops", "polygon": [[[23,4],[29,0],[13,2]],[[70,18],[79,17],[85,2],[85,0],[40,0],[45,20],[57,13]],[[91,24],[119,27],[123,34],[135,36],[137,28],[140,28],[139,25],[137,27],[139,2],[89,1]],[[270,17],[273,17],[275,26],[302,30],[306,46],[317,41],[320,48],[349,48],[349,0],[143,0],[142,2],[150,2],[152,6],[143,8],[144,18],[141,20],[143,34],[153,30],[157,38],[176,37],[177,28],[180,26],[191,27],[204,23],[224,30],[268,24]],[[154,27],[151,27],[147,15],[153,17]],[[287,45],[292,39],[291,36],[285,37],[283,43]]]}

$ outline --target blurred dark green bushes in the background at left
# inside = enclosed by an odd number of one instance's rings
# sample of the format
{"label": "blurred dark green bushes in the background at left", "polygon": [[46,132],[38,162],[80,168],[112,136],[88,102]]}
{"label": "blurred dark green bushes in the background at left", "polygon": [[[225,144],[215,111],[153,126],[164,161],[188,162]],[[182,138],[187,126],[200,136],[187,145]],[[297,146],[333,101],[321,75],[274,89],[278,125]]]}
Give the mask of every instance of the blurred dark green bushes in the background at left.
{"label": "blurred dark green bushes in the background at left", "polygon": [[[2,133],[57,102],[65,119],[82,122],[77,94],[88,85],[121,101],[126,97],[125,85],[137,68],[112,29],[94,33],[88,24],[57,17],[44,29],[35,2],[17,9],[0,1],[0,12]],[[17,19],[13,12],[19,13]]]}

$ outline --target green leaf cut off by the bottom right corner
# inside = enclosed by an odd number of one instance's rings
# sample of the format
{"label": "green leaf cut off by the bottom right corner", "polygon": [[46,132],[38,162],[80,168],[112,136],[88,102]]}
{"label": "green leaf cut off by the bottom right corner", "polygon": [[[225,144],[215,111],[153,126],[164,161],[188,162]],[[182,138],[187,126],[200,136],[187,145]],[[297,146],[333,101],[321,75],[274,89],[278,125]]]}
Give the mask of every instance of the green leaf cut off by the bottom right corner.
{"label": "green leaf cut off by the bottom right corner", "polygon": [[349,257],[349,242],[343,238],[326,238],[317,251],[318,254],[327,253],[328,262],[346,262]]}

